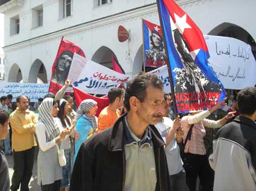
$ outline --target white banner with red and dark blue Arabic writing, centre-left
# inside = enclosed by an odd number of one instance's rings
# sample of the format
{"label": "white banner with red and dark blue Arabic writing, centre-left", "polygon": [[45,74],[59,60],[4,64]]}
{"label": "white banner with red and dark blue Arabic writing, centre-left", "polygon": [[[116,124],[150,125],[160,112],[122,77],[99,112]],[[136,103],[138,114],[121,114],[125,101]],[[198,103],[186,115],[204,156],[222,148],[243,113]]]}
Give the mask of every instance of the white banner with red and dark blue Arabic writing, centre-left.
{"label": "white banner with red and dark blue Arabic writing, centre-left", "polygon": [[68,79],[74,87],[89,94],[107,94],[111,88],[126,83],[131,78],[74,54]]}

